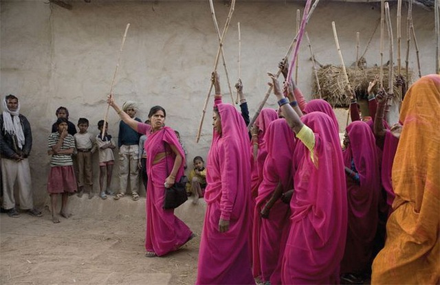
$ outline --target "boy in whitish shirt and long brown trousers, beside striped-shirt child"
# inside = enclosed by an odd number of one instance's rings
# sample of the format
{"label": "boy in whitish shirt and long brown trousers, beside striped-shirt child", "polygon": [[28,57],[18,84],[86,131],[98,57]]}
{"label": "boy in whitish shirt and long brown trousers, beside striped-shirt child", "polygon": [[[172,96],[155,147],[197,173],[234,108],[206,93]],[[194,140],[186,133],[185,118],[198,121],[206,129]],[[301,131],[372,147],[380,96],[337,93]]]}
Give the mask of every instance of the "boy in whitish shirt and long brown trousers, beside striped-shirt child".
{"label": "boy in whitish shirt and long brown trousers, beside striped-shirt child", "polygon": [[78,197],[83,196],[85,184],[90,187],[89,199],[94,196],[93,193],[93,177],[91,168],[91,155],[95,152],[94,135],[87,132],[89,128],[89,120],[85,117],[78,119],[79,133],[74,135],[76,147],[76,161],[78,163]]}

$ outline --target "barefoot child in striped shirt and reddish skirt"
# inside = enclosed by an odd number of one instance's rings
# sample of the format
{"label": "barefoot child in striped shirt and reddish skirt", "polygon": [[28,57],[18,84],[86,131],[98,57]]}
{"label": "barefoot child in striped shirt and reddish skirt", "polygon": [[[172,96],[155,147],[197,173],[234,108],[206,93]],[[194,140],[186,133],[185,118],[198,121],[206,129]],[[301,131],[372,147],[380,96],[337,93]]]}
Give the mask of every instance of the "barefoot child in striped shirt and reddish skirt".
{"label": "barefoot child in striped shirt and reddish skirt", "polygon": [[58,194],[61,194],[61,216],[69,218],[67,213],[67,201],[69,193],[76,191],[76,178],[72,153],[75,149],[75,140],[72,135],[67,133],[67,118],[60,117],[56,120],[58,131],[51,133],[47,140],[47,155],[52,155],[50,159],[50,172],[47,178],[47,192],[50,194],[52,221],[60,223],[55,214],[58,203]]}

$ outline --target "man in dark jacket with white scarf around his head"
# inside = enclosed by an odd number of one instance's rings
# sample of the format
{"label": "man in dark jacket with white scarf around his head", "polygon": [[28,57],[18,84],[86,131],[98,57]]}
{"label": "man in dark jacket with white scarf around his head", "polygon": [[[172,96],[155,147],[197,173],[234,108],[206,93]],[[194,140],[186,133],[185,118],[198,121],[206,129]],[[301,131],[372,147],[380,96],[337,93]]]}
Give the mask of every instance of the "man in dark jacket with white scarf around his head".
{"label": "man in dark jacket with white scarf around his head", "polygon": [[32,132],[25,116],[20,114],[19,99],[5,96],[0,115],[0,154],[3,181],[3,208],[8,216],[18,217],[15,209],[14,185],[19,187],[20,207],[31,216],[41,216],[34,209],[28,157],[32,148]]}

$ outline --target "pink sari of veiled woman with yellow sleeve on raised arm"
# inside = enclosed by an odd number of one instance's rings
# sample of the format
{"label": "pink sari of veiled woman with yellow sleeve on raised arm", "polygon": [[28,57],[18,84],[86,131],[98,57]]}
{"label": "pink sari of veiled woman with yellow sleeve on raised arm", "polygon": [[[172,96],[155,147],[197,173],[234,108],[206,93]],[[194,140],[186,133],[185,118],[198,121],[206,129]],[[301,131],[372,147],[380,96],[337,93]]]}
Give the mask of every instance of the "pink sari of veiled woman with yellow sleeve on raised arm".
{"label": "pink sari of veiled woman with yellow sleeve on raised arm", "polygon": [[297,141],[283,284],[335,284],[347,235],[347,190],[339,137],[325,113],[301,117],[315,134],[314,157]]}

